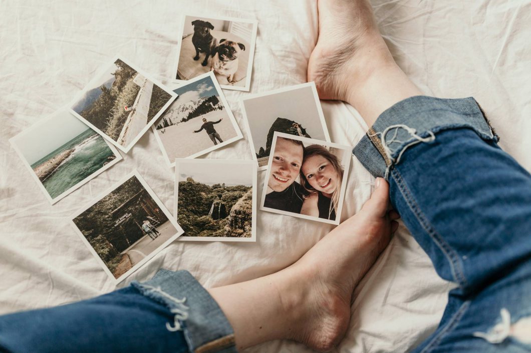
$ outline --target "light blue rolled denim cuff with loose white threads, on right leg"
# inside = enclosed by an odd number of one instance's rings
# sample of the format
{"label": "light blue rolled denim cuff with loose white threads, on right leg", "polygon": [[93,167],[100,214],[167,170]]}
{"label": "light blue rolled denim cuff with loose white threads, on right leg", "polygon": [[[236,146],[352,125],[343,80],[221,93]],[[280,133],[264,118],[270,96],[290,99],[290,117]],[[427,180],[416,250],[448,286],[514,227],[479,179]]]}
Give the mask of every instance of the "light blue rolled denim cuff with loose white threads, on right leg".
{"label": "light blue rolled denim cuff with loose white threads, on right leg", "polygon": [[413,96],[381,113],[352,152],[374,177],[388,179],[408,147],[432,143],[436,133],[457,128],[472,129],[485,140],[499,139],[474,98]]}

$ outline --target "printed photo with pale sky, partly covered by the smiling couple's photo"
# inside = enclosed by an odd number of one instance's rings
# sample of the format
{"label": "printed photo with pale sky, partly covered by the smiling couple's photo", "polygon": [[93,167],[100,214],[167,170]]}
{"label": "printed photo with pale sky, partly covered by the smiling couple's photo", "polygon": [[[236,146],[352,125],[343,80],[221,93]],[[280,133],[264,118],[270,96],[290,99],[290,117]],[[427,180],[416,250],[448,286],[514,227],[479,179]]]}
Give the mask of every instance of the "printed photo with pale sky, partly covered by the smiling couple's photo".
{"label": "printed photo with pale sky, partly covered by the smiling couple's photo", "polygon": [[259,170],[267,168],[275,131],[330,141],[313,82],[247,96],[241,105],[251,153]]}

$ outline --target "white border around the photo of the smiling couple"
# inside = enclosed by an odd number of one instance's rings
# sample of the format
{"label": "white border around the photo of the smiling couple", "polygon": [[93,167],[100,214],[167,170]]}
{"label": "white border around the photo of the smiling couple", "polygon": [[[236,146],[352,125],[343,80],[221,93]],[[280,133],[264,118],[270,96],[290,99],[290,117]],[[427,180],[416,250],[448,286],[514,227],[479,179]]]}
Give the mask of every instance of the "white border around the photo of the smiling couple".
{"label": "white border around the photo of the smiling couple", "polygon": [[284,138],[292,139],[292,140],[299,140],[299,141],[301,141],[303,143],[318,144],[318,145],[327,146],[327,147],[334,147],[334,148],[338,148],[338,149],[341,149],[342,151],[344,151],[344,156],[341,159],[341,162],[345,161],[344,162],[345,163],[344,164],[345,170],[343,172],[343,178],[342,178],[342,181],[341,181],[341,191],[340,191],[341,193],[339,195],[338,209],[336,211],[336,219],[335,220],[324,219],[324,218],[319,218],[319,217],[301,215],[301,214],[294,213],[294,212],[282,211],[282,210],[279,210],[279,209],[276,209],[276,208],[264,207],[263,205],[264,205],[264,201],[265,201],[265,193],[267,192],[267,188],[268,188],[267,181],[269,180],[269,174],[271,172],[271,164],[273,162],[273,160],[271,158],[269,158],[268,170],[267,170],[267,173],[265,173],[264,185],[263,185],[263,189],[262,189],[262,198],[260,200],[260,210],[268,211],[268,212],[271,212],[271,213],[278,213],[278,214],[281,214],[281,215],[292,216],[292,217],[310,219],[310,220],[314,220],[316,222],[339,225],[339,223],[341,221],[341,211],[343,210],[343,201],[345,199],[345,191],[347,189],[348,171],[349,171],[349,168],[350,168],[350,161],[352,160],[352,147],[351,146],[346,146],[346,145],[339,145],[339,144],[328,142],[328,141],[316,140],[316,139],[313,139],[313,138],[307,138],[307,137],[302,137],[302,136],[295,136],[295,135],[290,135],[290,134],[285,134],[285,133],[279,133],[278,131],[275,131],[275,134],[273,134],[273,142],[271,144],[271,152],[275,151],[275,147],[277,145],[277,138],[278,137],[284,137]]}

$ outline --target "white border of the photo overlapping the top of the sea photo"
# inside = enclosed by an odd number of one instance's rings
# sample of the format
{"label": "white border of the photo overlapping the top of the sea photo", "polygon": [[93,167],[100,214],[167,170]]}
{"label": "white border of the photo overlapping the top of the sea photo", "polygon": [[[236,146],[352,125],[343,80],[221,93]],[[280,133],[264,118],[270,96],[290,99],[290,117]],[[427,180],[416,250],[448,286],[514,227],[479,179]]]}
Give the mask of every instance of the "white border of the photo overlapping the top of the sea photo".
{"label": "white border of the photo overlapping the top of the sea photo", "polygon": [[[111,65],[114,65],[114,63],[116,63],[116,60],[122,60],[126,65],[130,66],[132,69],[134,69],[137,73],[139,73],[140,75],[144,76],[145,78],[147,78],[149,81],[153,82],[154,84],[156,84],[157,86],[159,86],[163,91],[165,91],[166,93],[168,93],[170,95],[170,99],[166,102],[166,104],[164,104],[164,106],[159,110],[159,112],[157,114],[155,114],[155,116],[153,118],[151,118],[151,120],[144,126],[144,128],[140,131],[140,133],[138,135],[136,135],[136,137],[132,140],[132,142],[127,145],[127,146],[122,146],[121,144],[119,144],[118,142],[116,142],[115,140],[113,140],[112,138],[110,138],[107,134],[105,134],[103,131],[101,131],[100,129],[98,129],[96,126],[92,125],[92,123],[90,123],[90,121],[88,121],[87,119],[83,118],[80,114],[78,114],[76,111],[74,111],[72,109],[72,107],[74,106],[75,103],[79,102],[79,100],[82,98],[83,94],[85,92],[87,92],[87,87],[89,86],[92,86],[91,84],[95,83],[96,80],[98,80],[98,78],[100,78],[102,75],[105,74],[106,70],[108,70],[108,68],[111,66]],[[98,134],[100,134],[103,138],[107,139],[108,142],[112,143],[113,145],[115,145],[116,147],[118,147],[122,152],[124,153],[128,153],[130,151],[130,149],[138,142],[138,140],[144,136],[144,134],[146,133],[146,131],[148,131],[148,129],[153,125],[153,123],[155,123],[155,121],[158,120],[158,118],[160,118],[160,116],[162,115],[162,113],[164,113],[166,111],[166,109],[168,109],[169,105],[173,103],[173,101],[177,98],[177,94],[175,92],[173,92],[172,90],[168,89],[168,87],[166,87],[164,84],[162,84],[160,81],[158,80],[155,80],[150,74],[147,74],[145,73],[143,70],[140,70],[138,69],[138,67],[136,65],[132,65],[131,64],[131,61],[125,59],[122,55],[116,55],[112,61],[109,61],[108,64],[105,65],[104,68],[100,69],[98,71],[98,74],[96,74],[95,76],[92,77],[92,80],[89,81],[89,83],[87,83],[87,85],[85,85],[85,87],[83,88],[83,90],[78,93],[75,98],[72,100],[72,102],[70,104],[68,104],[68,106],[70,107],[70,109],[68,109],[68,111],[70,111],[70,113],[72,113],[76,118],[80,119],[81,121],[83,121],[85,124],[87,124],[88,126],[90,126],[92,129],[94,129],[95,131],[97,131]]]}

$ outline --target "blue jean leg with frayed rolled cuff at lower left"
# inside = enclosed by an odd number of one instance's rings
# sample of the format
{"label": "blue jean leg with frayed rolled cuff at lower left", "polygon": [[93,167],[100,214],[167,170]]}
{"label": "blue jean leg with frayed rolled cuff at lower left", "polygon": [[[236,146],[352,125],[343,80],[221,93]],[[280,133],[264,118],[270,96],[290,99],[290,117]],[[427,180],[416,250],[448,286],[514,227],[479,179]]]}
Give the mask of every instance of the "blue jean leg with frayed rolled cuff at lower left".
{"label": "blue jean leg with frayed rolled cuff at lower left", "polygon": [[0,316],[1,352],[234,353],[225,315],[189,272],[77,303]]}

